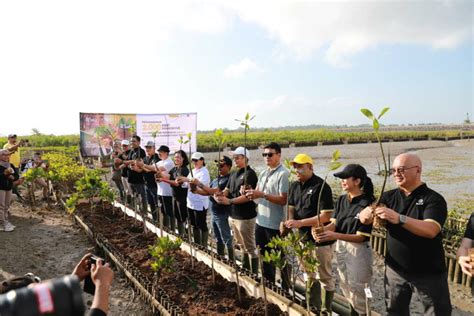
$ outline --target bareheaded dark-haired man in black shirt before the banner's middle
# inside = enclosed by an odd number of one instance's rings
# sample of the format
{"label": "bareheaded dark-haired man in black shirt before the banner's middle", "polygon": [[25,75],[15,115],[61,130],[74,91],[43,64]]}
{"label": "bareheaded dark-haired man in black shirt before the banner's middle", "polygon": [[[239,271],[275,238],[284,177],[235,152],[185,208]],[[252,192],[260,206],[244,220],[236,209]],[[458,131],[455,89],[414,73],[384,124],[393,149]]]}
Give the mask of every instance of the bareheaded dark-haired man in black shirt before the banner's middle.
{"label": "bareheaded dark-haired man in black shirt before the banner's middle", "polygon": [[124,161],[124,164],[129,168],[128,183],[130,184],[132,194],[141,197],[141,212],[142,214],[146,215],[148,205],[145,192],[145,179],[143,178],[141,168],[137,165],[137,162],[142,161],[146,157],[146,153],[143,148],[140,147],[140,136],[132,136],[130,139],[130,144],[132,149],[128,153],[127,160]]}

